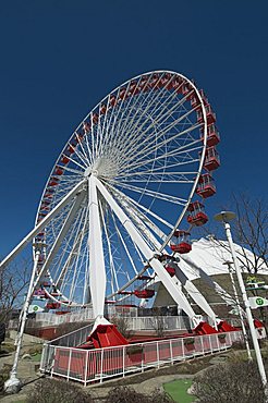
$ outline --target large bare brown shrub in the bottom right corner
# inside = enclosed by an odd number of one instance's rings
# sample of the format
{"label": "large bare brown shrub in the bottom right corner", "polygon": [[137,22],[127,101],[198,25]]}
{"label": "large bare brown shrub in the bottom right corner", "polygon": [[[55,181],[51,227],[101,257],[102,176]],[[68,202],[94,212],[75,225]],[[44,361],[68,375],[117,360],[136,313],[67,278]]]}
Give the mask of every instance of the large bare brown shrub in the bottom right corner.
{"label": "large bare brown shrub in the bottom right corner", "polygon": [[212,366],[194,379],[193,389],[199,403],[266,402],[256,363]]}

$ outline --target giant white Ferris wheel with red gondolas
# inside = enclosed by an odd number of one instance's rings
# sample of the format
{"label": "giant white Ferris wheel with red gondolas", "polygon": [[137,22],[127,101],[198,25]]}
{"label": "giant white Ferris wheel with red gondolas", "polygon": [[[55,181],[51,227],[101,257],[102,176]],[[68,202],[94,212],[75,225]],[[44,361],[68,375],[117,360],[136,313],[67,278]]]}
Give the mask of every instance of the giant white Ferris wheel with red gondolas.
{"label": "giant white Ferris wheel with red gondolas", "polygon": [[28,235],[34,290],[48,307],[92,304],[101,317],[106,302],[151,296],[156,277],[186,303],[169,257],[190,252],[188,228],[207,220],[202,210],[219,166],[215,121],[204,91],[171,71],[123,83],[85,117],[52,168]]}

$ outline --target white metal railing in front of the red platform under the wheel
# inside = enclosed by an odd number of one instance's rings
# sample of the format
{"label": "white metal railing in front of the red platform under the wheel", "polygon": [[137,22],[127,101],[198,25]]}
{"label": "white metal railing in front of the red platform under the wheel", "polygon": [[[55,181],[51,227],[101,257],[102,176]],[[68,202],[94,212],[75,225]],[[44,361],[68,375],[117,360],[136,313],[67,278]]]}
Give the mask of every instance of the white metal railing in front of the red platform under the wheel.
{"label": "white metal railing in front of the red platform under the wheel", "polygon": [[242,340],[241,331],[191,338],[166,339],[124,346],[80,350],[46,344],[40,370],[50,376],[83,382],[102,382],[112,377],[144,371],[146,368],[185,361],[231,347]]}

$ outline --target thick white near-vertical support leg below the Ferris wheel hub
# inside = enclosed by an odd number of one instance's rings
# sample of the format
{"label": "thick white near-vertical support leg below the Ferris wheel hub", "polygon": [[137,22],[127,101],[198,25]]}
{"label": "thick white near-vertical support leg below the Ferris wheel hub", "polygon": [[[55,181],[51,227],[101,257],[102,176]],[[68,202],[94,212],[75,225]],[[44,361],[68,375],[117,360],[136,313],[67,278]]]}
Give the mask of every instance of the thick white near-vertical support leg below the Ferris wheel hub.
{"label": "thick white near-vertical support leg below the Ferris wheel hub", "polygon": [[106,295],[106,267],[101,237],[100,211],[98,205],[96,176],[88,178],[89,209],[89,278],[95,325],[109,323],[103,318]]}

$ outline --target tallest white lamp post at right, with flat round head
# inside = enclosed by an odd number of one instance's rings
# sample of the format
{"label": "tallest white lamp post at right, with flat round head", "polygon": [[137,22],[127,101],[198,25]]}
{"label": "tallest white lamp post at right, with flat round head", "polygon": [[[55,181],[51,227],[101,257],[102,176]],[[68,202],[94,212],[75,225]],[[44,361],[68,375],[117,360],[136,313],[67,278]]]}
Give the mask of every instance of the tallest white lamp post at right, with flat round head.
{"label": "tallest white lamp post at right, with flat round head", "polygon": [[229,246],[230,246],[230,251],[231,251],[231,255],[232,255],[232,258],[233,258],[235,272],[236,272],[236,276],[237,276],[237,280],[239,280],[243,302],[244,302],[244,305],[245,305],[246,317],[247,317],[247,322],[248,322],[248,326],[249,326],[249,331],[251,331],[253,345],[254,345],[254,350],[255,350],[255,354],[256,354],[258,370],[259,370],[259,375],[260,375],[261,381],[264,383],[264,387],[266,389],[266,395],[267,395],[267,377],[266,377],[266,373],[265,373],[265,366],[264,366],[264,363],[263,363],[263,357],[261,357],[260,349],[259,349],[259,345],[258,345],[258,340],[257,340],[256,330],[255,330],[255,327],[254,327],[252,310],[251,310],[249,302],[248,302],[247,295],[246,295],[245,284],[244,284],[243,278],[242,278],[242,273],[241,273],[241,269],[240,269],[240,266],[239,266],[236,253],[234,251],[234,245],[233,245],[233,240],[232,240],[232,234],[231,234],[231,227],[230,227],[230,223],[229,223],[229,221],[233,220],[234,218],[235,218],[235,213],[232,212],[232,211],[221,211],[221,212],[219,212],[218,215],[215,216],[215,220],[221,221],[224,224],[224,229],[226,229],[226,233],[227,233],[227,240],[228,240],[228,243],[229,243]]}

